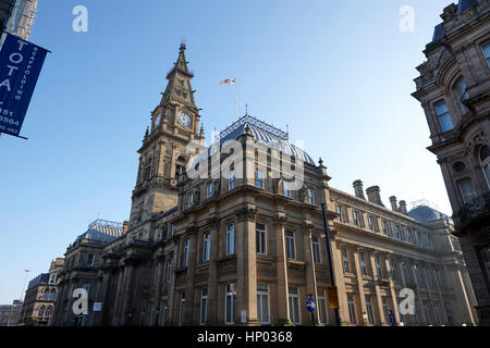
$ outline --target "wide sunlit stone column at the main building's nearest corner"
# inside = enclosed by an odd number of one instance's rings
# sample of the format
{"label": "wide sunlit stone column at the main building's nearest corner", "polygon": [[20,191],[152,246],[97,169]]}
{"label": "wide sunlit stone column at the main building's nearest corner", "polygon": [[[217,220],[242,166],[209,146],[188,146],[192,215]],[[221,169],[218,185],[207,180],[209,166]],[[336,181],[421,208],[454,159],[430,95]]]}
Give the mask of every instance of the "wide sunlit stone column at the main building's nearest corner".
{"label": "wide sunlit stone column at the main building's nearest corner", "polygon": [[241,311],[246,311],[245,325],[258,325],[257,318],[257,247],[255,219],[257,209],[247,204],[235,212],[236,228],[236,319],[241,323]]}

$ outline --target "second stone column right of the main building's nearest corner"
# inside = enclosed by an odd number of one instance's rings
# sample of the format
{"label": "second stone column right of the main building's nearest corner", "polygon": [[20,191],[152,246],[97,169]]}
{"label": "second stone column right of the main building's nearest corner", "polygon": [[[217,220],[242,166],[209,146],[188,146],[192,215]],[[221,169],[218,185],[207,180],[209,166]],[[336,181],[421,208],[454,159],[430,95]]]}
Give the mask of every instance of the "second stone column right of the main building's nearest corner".
{"label": "second stone column right of the main building's nearest corner", "polygon": [[[318,291],[317,291],[317,275],[315,270],[315,256],[313,253],[313,238],[311,231],[314,228],[314,224],[311,221],[306,220],[303,225],[303,246],[305,253],[305,263],[306,263],[306,291],[307,294],[311,294],[315,299],[315,303],[317,308],[314,312],[315,325],[320,324],[320,311],[318,308]],[[305,320],[308,322],[309,318]]]}

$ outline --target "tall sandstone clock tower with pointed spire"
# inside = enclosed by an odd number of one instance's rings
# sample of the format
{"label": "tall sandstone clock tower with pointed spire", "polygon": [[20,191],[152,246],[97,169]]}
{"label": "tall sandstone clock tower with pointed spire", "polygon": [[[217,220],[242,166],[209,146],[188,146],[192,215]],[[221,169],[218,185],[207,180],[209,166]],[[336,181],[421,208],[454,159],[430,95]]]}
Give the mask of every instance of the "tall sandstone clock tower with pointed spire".
{"label": "tall sandstone clock tower with pointed spire", "polygon": [[194,100],[185,45],[182,44],[177,61],[167,74],[166,91],[151,112],[151,125],[146,129],[138,150],[139,167],[133,190],[130,224],[138,224],[154,213],[177,204],[176,183],[185,173],[191,140],[203,141],[204,130],[198,130],[199,110]]}

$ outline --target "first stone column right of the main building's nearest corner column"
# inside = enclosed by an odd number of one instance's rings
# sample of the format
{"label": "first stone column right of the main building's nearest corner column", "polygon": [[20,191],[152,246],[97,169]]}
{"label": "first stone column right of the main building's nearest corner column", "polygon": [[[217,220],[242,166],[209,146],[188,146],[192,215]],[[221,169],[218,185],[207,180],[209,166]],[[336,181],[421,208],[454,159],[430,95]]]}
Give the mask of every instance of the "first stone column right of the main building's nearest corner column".
{"label": "first stone column right of the main building's nearest corner column", "polygon": [[275,250],[277,250],[277,278],[278,278],[278,322],[283,325],[291,325],[289,285],[287,285],[287,253],[285,245],[285,224],[287,216],[279,212],[274,221]]}

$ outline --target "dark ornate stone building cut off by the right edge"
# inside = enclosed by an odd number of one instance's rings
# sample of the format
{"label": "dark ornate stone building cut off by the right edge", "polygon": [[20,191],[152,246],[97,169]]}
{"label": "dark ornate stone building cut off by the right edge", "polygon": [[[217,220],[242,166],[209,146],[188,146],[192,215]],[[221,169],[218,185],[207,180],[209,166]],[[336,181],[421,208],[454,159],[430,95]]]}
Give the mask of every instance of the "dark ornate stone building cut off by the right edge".
{"label": "dark ornate stone building cut off by the right edge", "polygon": [[417,67],[421,102],[454,212],[480,323],[490,323],[490,1],[450,4]]}

